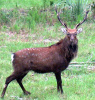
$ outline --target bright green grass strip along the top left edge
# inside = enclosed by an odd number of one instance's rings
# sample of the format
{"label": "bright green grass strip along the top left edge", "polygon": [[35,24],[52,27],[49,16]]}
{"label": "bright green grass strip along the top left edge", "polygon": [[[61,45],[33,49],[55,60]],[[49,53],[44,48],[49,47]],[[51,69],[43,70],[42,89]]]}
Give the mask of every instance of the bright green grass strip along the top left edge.
{"label": "bright green grass strip along the top left edge", "polygon": [[[7,9],[14,8],[14,7],[20,7],[20,8],[31,8],[36,6],[43,6],[43,0],[1,0],[0,1],[0,8],[5,8],[6,9],[6,4]],[[4,5],[5,4],[5,5]]]}

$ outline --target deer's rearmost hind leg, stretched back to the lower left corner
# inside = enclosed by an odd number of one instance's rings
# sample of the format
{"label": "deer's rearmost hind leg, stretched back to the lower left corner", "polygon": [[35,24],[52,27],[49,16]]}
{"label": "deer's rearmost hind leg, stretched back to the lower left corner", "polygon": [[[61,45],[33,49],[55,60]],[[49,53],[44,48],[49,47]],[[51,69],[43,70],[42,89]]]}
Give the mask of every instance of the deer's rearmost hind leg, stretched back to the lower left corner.
{"label": "deer's rearmost hind leg, stretched back to the lower left corner", "polygon": [[12,75],[10,75],[9,77],[6,78],[5,87],[4,87],[3,92],[2,92],[2,94],[1,94],[1,97],[2,97],[2,98],[3,98],[4,95],[5,95],[5,92],[6,92],[6,89],[7,89],[7,87],[8,87],[8,84],[9,84],[11,81],[15,80],[15,79],[16,79],[16,76],[15,76],[14,73],[13,73]]}

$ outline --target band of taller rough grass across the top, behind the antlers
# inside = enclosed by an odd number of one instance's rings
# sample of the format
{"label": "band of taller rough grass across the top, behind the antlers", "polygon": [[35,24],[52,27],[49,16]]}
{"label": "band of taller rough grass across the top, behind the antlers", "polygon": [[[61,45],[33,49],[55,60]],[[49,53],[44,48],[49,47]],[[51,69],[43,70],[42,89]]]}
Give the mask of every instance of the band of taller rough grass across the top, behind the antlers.
{"label": "band of taller rough grass across the top, behind the antlers", "polygon": [[[2,4],[8,4],[7,9]],[[11,4],[11,5],[10,5]],[[25,5],[26,4],[26,5]],[[0,24],[1,29],[8,27],[10,31],[20,33],[22,31],[34,31],[37,24],[54,25],[57,22],[54,5],[62,9],[62,20],[65,20],[71,27],[83,19],[83,5],[82,0],[17,0],[2,1],[0,10]],[[14,5],[14,6],[13,6]],[[36,6],[35,6],[36,5]],[[12,8],[13,7],[13,8]]]}

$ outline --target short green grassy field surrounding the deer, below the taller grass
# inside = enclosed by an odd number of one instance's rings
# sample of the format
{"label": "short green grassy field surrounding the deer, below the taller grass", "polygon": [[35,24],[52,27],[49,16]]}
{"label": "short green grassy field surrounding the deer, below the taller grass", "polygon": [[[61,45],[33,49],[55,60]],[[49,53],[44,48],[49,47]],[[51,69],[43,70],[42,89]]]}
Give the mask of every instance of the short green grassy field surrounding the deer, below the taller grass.
{"label": "short green grassy field surrounding the deer, below the taller grass", "polygon": [[[1,8],[5,9],[6,2],[0,1]],[[19,6],[31,6],[31,0],[27,4],[19,2]],[[38,0],[40,2],[40,0]],[[36,2],[36,1],[35,1]],[[34,5],[35,5],[34,2]],[[6,9],[12,8],[16,3],[10,0]],[[42,3],[40,3],[42,5]],[[90,15],[89,15],[90,17]],[[50,18],[51,19],[51,18]],[[88,18],[89,19],[89,18]],[[56,18],[57,20],[57,18]],[[2,27],[2,26],[1,26]],[[2,93],[6,77],[12,72],[11,53],[23,48],[46,47],[64,38],[60,24],[46,25],[38,23],[32,32],[10,31],[9,28],[1,28],[0,31],[0,94]],[[95,23],[85,22],[83,32],[78,35],[78,56],[72,62],[95,62]],[[27,29],[27,28],[26,28]],[[37,74],[29,72],[23,79],[23,84],[31,95],[25,96],[17,84],[13,81],[9,84],[4,100],[95,100],[95,64],[81,64],[80,67],[69,66],[62,72],[62,86],[64,94],[57,93],[56,80],[53,73]],[[0,98],[0,100],[2,100]]]}

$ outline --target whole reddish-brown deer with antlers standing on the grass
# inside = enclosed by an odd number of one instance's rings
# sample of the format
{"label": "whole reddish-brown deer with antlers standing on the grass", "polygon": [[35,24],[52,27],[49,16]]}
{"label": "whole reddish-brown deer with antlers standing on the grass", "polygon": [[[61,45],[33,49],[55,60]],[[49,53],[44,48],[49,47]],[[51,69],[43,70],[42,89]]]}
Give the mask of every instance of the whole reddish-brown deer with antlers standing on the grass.
{"label": "whole reddish-brown deer with antlers standing on the grass", "polygon": [[74,29],[70,29],[66,23],[61,21],[56,8],[55,10],[58,20],[66,28],[62,29],[66,34],[65,38],[49,47],[26,48],[13,53],[12,64],[14,72],[7,77],[1,97],[4,97],[8,84],[13,80],[17,80],[24,94],[30,94],[22,84],[22,79],[30,70],[37,73],[53,72],[57,80],[57,90],[63,93],[61,72],[68,67],[70,61],[77,55],[77,34],[82,32],[82,28],[77,28],[87,19],[88,11],[84,20],[77,24]]}

